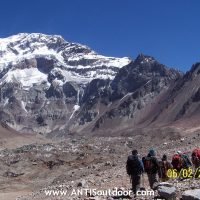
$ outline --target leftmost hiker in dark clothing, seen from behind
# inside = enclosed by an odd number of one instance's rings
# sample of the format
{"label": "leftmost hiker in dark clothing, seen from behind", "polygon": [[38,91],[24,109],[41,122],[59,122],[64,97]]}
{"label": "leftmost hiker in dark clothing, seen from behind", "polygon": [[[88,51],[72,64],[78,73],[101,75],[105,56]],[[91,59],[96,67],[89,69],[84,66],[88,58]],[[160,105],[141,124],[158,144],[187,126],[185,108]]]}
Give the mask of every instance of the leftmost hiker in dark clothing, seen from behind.
{"label": "leftmost hiker in dark clothing, seen from behind", "polygon": [[133,150],[132,155],[128,156],[126,171],[131,178],[133,193],[136,195],[137,191],[140,189],[141,176],[144,172],[144,166],[142,160],[138,157],[137,150]]}

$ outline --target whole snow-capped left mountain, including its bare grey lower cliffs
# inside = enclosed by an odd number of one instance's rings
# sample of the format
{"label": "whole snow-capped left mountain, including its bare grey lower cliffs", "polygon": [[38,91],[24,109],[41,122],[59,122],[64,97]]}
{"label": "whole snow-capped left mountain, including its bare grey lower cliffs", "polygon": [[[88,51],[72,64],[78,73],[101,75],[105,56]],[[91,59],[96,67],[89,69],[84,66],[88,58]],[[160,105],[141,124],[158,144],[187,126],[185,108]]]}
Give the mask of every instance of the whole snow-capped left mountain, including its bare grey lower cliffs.
{"label": "whole snow-capped left mountain, including its bare grey lower cliffs", "polygon": [[129,62],[57,35],[22,33],[0,39],[0,120],[21,132],[64,129],[87,84],[113,79]]}

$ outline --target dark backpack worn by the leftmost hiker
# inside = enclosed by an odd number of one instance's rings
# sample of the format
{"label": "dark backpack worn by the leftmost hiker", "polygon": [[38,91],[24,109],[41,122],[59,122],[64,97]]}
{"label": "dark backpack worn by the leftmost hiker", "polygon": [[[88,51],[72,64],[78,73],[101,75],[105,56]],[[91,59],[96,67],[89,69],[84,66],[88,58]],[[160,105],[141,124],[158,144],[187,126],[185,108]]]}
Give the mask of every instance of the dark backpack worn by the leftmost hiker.
{"label": "dark backpack worn by the leftmost hiker", "polygon": [[136,156],[129,156],[126,164],[126,171],[128,175],[141,174],[143,166],[141,161]]}

